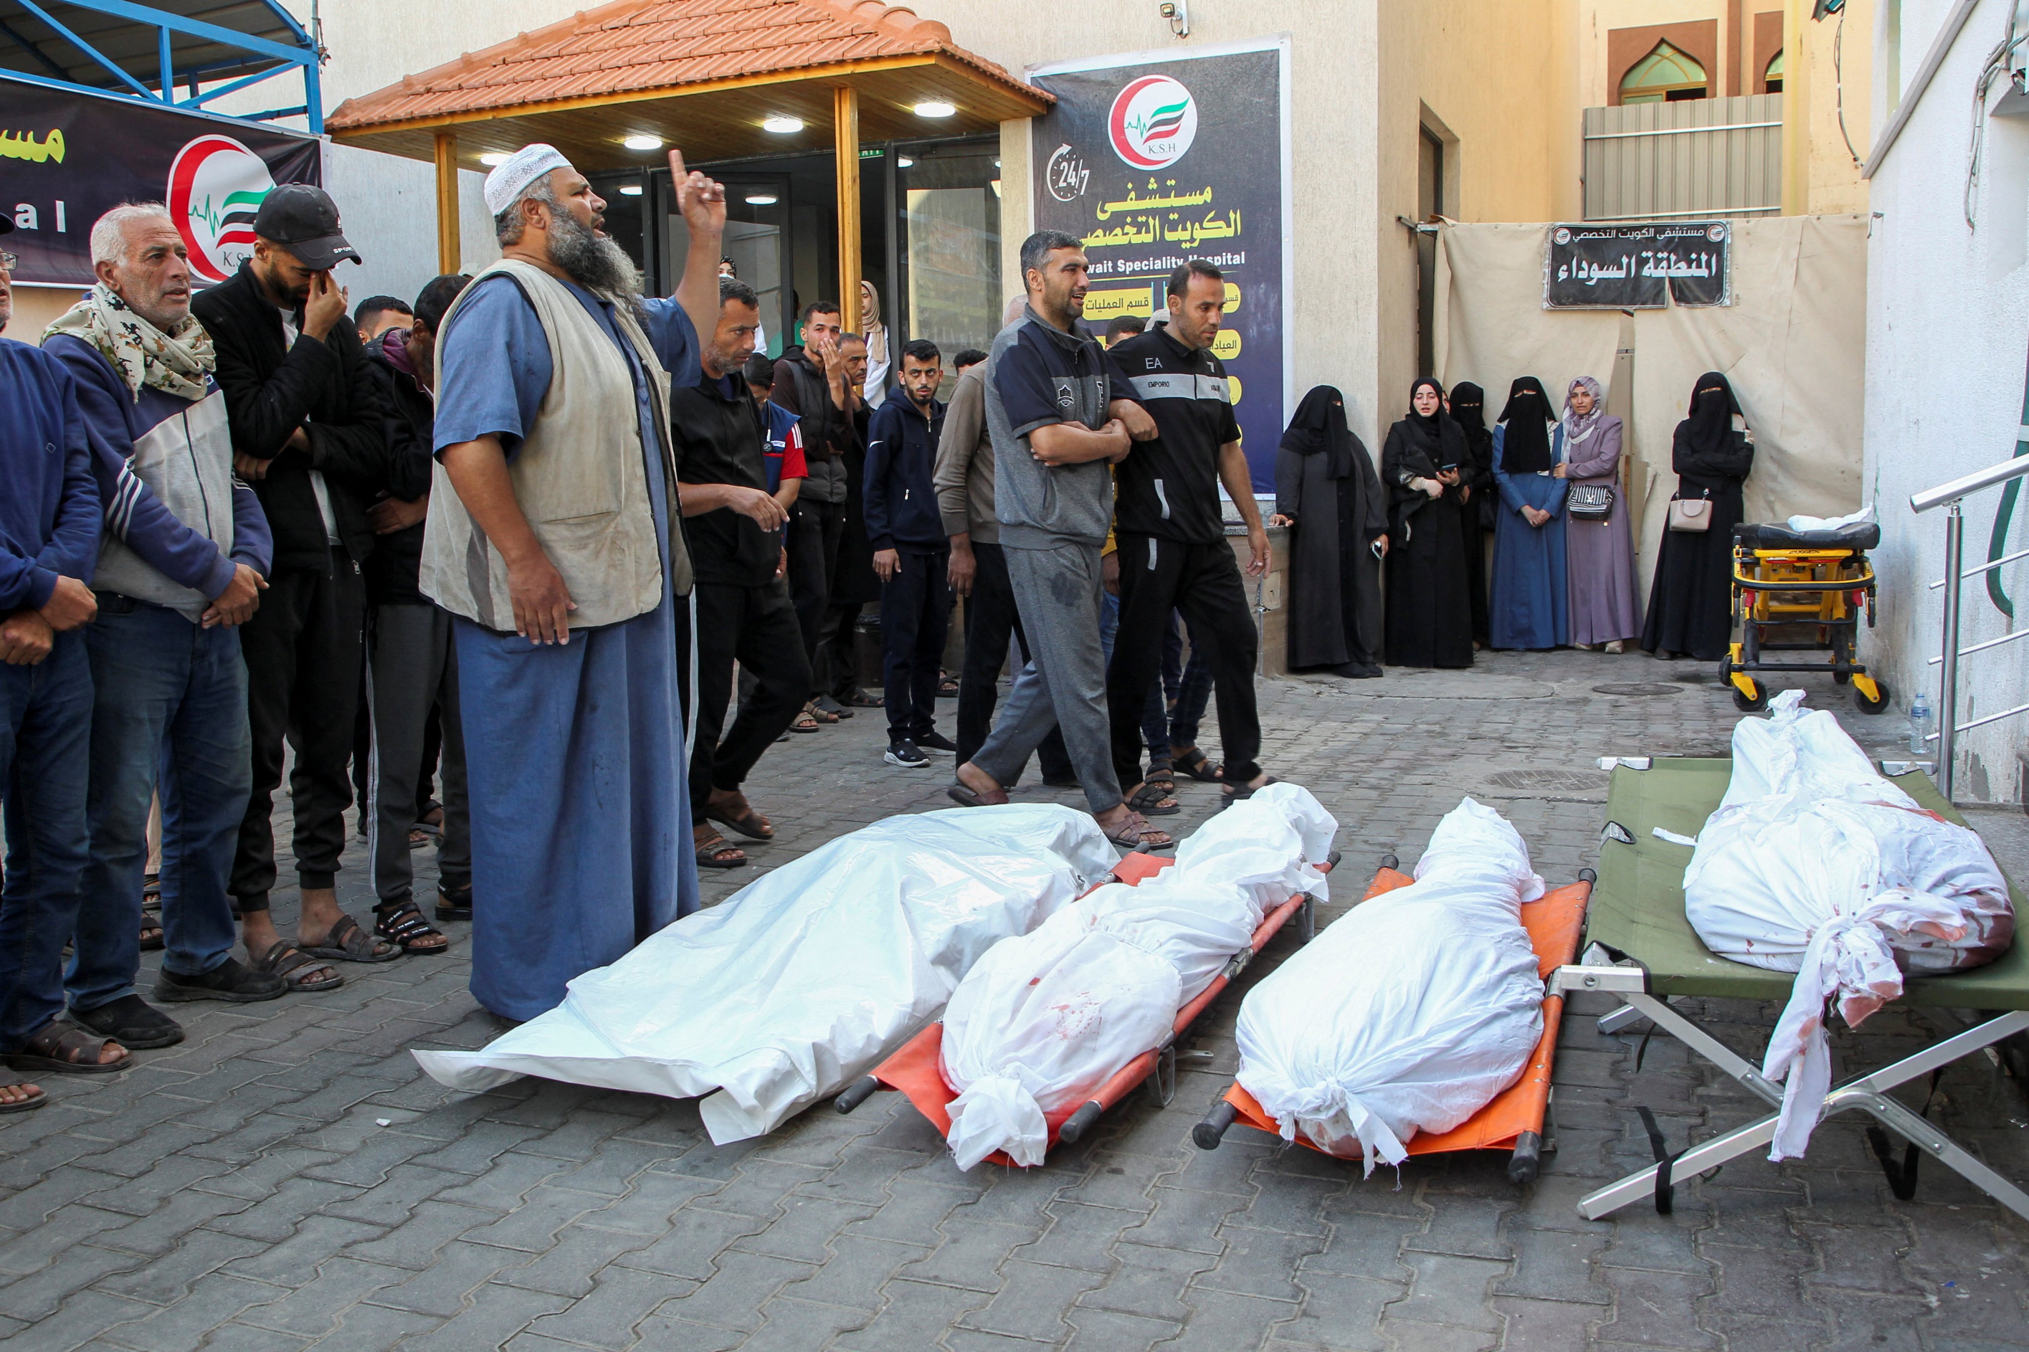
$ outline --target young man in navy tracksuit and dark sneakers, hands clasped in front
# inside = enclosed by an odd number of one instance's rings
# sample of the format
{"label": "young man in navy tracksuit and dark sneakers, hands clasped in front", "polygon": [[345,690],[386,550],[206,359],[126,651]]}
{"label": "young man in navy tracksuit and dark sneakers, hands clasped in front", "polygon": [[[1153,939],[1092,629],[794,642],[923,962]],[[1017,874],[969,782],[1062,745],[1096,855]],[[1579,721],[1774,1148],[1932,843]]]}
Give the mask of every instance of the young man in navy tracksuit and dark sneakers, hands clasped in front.
{"label": "young man in navy tracksuit and dark sneakers, hands clasped in front", "polygon": [[952,628],[946,572],[952,545],[937,511],[931,472],[943,436],[943,379],[937,345],[917,339],[901,351],[901,399],[887,399],[866,428],[866,539],[881,576],[881,679],[887,687],[887,762],[909,770],[948,756],[958,744],[935,730],[937,663]]}

